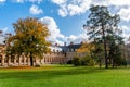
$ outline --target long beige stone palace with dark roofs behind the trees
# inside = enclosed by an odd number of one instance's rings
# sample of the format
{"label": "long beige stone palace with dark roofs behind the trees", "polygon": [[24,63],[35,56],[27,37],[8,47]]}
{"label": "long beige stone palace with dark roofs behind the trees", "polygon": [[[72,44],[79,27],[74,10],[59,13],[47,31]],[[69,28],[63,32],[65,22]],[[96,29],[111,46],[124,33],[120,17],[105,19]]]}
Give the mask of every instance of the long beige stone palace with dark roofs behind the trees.
{"label": "long beige stone palace with dark roofs behind the trees", "polygon": [[[24,53],[21,57],[15,55],[12,59],[6,58],[6,45],[4,44],[4,37],[1,37],[0,40],[0,66],[30,65],[30,59]],[[66,46],[66,44],[64,46],[50,46],[51,53],[44,54],[42,59],[36,57],[34,59],[34,64],[64,64],[67,61],[73,60],[74,57],[84,57],[87,54],[86,52],[77,52],[77,49],[80,47],[81,44],[74,45],[73,42],[68,46]]]}

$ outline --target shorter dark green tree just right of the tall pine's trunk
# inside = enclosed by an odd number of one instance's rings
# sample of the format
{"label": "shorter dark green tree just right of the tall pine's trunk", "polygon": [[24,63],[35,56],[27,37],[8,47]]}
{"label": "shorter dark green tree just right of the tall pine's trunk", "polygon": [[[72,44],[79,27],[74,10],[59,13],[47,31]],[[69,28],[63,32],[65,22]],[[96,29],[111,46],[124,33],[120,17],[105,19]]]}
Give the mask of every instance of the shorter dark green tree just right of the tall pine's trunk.
{"label": "shorter dark green tree just right of the tall pine's trunk", "polygon": [[112,62],[113,67],[125,64],[125,58],[122,55],[123,41],[122,37],[118,34],[108,35],[108,59]]}

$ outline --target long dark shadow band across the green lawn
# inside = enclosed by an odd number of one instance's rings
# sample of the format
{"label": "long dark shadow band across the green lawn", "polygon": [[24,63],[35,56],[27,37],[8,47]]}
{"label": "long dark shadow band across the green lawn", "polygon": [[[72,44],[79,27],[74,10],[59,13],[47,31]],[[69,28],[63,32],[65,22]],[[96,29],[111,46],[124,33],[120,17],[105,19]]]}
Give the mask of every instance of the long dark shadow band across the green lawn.
{"label": "long dark shadow band across the green lawn", "polygon": [[40,70],[38,71],[16,71],[16,72],[1,72],[1,79],[20,79],[20,80],[37,80],[37,79],[51,79],[55,77],[69,76],[69,75],[79,75],[79,74],[92,74],[103,72],[96,67],[54,67],[54,70]]}

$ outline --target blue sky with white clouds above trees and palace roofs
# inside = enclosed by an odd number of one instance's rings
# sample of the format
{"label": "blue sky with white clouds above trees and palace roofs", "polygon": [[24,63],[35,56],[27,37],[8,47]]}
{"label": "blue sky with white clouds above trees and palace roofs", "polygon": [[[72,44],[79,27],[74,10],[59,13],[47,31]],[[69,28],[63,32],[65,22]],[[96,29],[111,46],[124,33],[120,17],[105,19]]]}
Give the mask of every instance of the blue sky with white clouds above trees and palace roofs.
{"label": "blue sky with white clouds above trees and palace roofs", "polygon": [[48,24],[53,44],[79,44],[88,39],[82,28],[91,4],[106,5],[112,14],[119,14],[119,28],[127,40],[130,36],[130,0],[0,0],[0,30],[14,34],[18,18],[37,17]]}

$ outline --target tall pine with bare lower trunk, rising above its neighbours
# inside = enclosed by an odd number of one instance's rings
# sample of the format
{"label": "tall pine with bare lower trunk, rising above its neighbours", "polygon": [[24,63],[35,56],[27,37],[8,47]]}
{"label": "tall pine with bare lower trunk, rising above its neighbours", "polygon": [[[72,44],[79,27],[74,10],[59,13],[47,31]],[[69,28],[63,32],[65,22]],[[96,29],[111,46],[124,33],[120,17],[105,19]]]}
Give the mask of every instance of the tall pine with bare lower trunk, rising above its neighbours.
{"label": "tall pine with bare lower trunk, rising above its neighbours", "polygon": [[90,40],[96,45],[98,42],[104,46],[105,67],[108,67],[108,52],[106,36],[114,29],[117,29],[120,18],[119,15],[112,15],[104,5],[92,5],[87,23],[83,27],[87,29]]}

